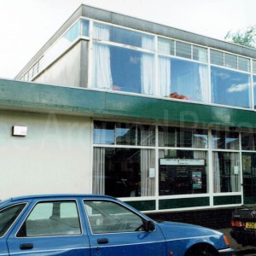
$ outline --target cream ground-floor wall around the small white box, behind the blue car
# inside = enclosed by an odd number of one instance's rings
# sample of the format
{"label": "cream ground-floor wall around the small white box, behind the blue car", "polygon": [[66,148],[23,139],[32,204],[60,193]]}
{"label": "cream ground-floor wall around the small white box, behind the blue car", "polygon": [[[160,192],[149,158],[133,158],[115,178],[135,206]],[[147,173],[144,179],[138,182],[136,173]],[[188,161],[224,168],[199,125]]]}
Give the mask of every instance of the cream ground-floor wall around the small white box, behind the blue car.
{"label": "cream ground-floor wall around the small white box, behind the blue car", "polygon": [[[26,137],[12,137],[26,125]],[[90,119],[55,113],[0,112],[0,199],[91,193]]]}

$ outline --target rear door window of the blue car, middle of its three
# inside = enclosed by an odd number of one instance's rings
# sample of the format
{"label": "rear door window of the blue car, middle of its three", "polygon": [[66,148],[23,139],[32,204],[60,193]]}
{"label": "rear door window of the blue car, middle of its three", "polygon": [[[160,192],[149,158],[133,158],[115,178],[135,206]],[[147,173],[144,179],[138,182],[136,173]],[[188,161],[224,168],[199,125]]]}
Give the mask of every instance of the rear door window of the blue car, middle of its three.
{"label": "rear door window of the blue car, middle of its three", "polygon": [[81,234],[75,201],[39,202],[22,224],[17,236],[70,236]]}

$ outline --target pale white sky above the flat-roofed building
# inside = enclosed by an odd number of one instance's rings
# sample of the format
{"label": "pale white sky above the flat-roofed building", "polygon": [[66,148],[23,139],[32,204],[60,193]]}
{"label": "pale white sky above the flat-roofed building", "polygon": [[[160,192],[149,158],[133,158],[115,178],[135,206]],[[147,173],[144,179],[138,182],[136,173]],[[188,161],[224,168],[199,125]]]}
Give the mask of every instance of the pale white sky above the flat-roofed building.
{"label": "pale white sky above the flat-roofed building", "polygon": [[256,0],[0,0],[0,78],[14,79],[82,3],[220,40],[256,25]]}

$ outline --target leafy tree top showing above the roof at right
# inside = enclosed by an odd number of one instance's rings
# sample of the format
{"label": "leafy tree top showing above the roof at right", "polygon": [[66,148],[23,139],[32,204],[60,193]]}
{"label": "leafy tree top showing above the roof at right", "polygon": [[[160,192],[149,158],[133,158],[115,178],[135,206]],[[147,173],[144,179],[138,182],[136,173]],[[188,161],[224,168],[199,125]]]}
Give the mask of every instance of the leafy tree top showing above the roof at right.
{"label": "leafy tree top showing above the roof at right", "polygon": [[225,36],[225,40],[230,41],[231,43],[240,44],[243,46],[256,48],[255,43],[255,36],[256,36],[256,27],[249,26],[244,31],[237,31],[237,32],[227,32]]}

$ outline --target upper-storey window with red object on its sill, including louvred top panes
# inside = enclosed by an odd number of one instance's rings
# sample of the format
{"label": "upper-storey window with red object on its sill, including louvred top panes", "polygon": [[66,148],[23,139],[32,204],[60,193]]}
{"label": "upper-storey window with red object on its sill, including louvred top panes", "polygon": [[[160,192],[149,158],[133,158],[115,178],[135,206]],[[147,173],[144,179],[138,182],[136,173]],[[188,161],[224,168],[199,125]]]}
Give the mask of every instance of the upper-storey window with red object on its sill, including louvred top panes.
{"label": "upper-storey window with red object on its sill, including louvred top panes", "polygon": [[159,38],[158,51],[159,96],[208,102],[207,49]]}

